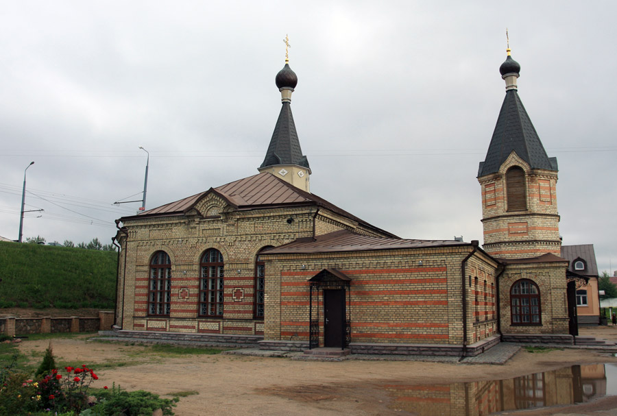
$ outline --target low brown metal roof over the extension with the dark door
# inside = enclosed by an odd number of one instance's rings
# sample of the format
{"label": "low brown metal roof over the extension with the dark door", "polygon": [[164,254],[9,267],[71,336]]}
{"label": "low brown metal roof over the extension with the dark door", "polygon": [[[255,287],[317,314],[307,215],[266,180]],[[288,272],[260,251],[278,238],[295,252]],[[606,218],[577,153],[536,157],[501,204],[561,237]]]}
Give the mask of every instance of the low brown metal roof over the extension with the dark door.
{"label": "low brown metal roof over the extension with the dark door", "polygon": [[348,230],[341,230],[317,236],[315,239],[311,237],[298,238],[291,243],[264,250],[262,254],[355,252],[455,245],[470,245],[470,243],[453,240],[405,240],[402,238],[363,236]]}

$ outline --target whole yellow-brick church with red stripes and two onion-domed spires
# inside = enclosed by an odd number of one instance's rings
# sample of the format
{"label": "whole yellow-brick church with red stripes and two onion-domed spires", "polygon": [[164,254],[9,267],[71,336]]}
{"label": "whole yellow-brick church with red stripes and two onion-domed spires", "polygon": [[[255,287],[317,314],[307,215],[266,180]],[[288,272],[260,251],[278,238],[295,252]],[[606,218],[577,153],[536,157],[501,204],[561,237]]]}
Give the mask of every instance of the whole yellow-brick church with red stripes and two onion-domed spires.
{"label": "whole yellow-brick church with red stripes and two onion-domed spires", "polygon": [[117,220],[118,333],[457,356],[500,341],[572,343],[577,277],[560,257],[557,161],[518,96],[509,49],[500,73],[506,95],[477,177],[483,247],[400,238],[311,193],[286,60],[256,175]]}

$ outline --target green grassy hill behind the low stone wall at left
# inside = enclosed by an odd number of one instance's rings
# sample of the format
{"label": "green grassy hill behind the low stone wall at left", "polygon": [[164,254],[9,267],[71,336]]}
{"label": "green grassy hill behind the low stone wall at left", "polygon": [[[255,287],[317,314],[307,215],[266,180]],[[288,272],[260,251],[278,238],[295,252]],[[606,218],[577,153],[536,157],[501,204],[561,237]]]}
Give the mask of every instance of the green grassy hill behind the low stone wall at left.
{"label": "green grassy hill behind the low stone wall at left", "polygon": [[0,308],[113,308],[117,256],[0,241]]}

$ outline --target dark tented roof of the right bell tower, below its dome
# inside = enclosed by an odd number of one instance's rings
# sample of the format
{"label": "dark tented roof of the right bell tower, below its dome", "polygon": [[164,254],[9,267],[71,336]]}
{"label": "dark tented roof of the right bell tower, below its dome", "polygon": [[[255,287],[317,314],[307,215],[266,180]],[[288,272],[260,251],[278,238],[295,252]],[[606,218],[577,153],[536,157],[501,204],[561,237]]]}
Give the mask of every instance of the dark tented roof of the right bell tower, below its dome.
{"label": "dark tented roof of the right bell tower, below its dome", "polygon": [[557,158],[546,155],[516,89],[506,92],[486,158],[480,162],[478,177],[498,172],[512,151],[529,163],[531,169],[558,170]]}

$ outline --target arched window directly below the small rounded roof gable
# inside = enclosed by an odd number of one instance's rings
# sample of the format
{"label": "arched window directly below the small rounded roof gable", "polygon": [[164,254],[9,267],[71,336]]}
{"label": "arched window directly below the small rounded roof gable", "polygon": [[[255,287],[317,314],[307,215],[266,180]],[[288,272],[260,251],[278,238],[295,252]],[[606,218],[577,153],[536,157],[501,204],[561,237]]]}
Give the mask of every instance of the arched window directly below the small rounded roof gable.
{"label": "arched window directly below the small rounded roof gable", "polygon": [[207,249],[199,263],[199,316],[223,317],[223,255],[217,249]]}

